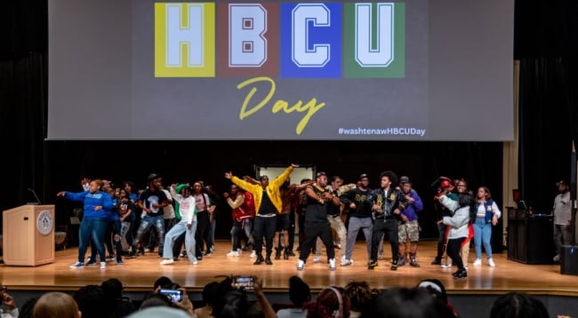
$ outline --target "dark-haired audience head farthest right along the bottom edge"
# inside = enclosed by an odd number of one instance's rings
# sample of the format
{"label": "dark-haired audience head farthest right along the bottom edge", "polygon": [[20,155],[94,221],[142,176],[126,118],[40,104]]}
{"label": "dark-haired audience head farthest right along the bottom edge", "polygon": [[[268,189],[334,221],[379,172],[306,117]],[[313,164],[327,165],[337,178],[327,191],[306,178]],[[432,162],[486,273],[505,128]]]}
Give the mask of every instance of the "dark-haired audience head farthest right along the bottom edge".
{"label": "dark-haired audience head farthest right along the bottom edge", "polygon": [[510,292],[495,299],[490,318],[547,318],[546,306],[524,292]]}

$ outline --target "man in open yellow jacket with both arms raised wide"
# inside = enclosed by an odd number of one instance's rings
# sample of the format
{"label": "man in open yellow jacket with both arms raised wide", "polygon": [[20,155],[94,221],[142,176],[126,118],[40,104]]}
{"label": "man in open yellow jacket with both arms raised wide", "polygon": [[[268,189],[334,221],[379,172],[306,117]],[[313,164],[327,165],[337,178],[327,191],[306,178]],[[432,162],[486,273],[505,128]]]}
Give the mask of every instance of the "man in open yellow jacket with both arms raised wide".
{"label": "man in open yellow jacket with both arms raised wide", "polygon": [[[281,211],[283,203],[281,201],[281,191],[279,187],[283,185],[286,179],[289,178],[291,172],[299,167],[297,164],[291,164],[283,173],[276,179],[269,182],[268,176],[261,176],[259,178],[260,184],[252,184],[243,179],[233,176],[233,173],[225,172],[225,178],[230,179],[238,187],[249,191],[255,201],[255,216],[253,224],[254,248],[257,254],[257,259],[253,265],[260,265],[265,262],[267,265],[273,265],[271,261],[271,252],[273,250],[273,237],[275,236],[275,228],[277,227],[277,214]],[[262,256],[262,241],[265,235],[266,257]]]}

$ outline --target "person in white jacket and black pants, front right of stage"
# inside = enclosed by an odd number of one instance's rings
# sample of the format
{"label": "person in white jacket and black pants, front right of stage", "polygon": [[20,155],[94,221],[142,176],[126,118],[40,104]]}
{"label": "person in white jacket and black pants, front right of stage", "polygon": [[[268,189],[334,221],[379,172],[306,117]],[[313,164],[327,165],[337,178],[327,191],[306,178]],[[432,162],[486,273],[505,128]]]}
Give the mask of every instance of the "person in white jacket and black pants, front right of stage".
{"label": "person in white jacket and black pants, front right of stage", "polygon": [[463,266],[462,256],[460,255],[460,248],[462,242],[468,236],[468,226],[470,225],[471,215],[475,213],[476,203],[474,196],[469,193],[460,194],[458,201],[454,201],[442,192],[442,195],[437,197],[439,203],[442,203],[449,211],[454,211],[451,216],[445,216],[442,222],[450,229],[447,233],[447,255],[452,258],[452,261],[458,266],[454,278],[468,277],[468,270]]}

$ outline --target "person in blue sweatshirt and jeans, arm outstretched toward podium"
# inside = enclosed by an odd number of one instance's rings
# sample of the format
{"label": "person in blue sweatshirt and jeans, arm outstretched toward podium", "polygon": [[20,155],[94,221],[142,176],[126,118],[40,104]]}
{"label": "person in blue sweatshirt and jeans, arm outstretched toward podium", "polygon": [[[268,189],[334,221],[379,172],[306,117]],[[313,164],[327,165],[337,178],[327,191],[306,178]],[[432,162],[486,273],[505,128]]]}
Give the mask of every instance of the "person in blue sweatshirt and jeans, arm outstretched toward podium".
{"label": "person in blue sweatshirt and jeans, arm outstretched toward podium", "polygon": [[78,229],[78,261],[70,268],[84,267],[86,247],[91,240],[96,246],[100,256],[100,268],[107,267],[104,254],[104,234],[107,230],[107,210],[113,208],[112,198],[106,192],[101,191],[102,181],[92,180],[88,191],[72,193],[60,191],[57,196],[64,196],[68,200],[83,202],[84,215]]}

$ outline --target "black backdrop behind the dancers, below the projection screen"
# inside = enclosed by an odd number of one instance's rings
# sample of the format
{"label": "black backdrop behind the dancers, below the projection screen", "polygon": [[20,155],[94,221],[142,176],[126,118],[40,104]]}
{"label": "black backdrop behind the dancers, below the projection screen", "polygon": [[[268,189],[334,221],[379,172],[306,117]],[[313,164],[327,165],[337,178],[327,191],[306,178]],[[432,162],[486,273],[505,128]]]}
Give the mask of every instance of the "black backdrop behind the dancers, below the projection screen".
{"label": "black backdrop behind the dancers, below the projection screen", "polygon": [[[255,165],[315,165],[329,176],[355,182],[360,173],[379,187],[381,171],[406,175],[421,195],[422,237],[437,237],[430,183],[440,175],[465,178],[470,187],[489,187],[502,203],[502,143],[475,142],[333,142],[333,141],[49,141],[46,180],[39,192],[45,203],[56,204],[58,222],[66,223],[78,206],[55,194],[80,191],[80,179],[132,180],[146,187],[147,175],[163,175],[165,186],[204,180],[218,194],[229,190],[225,171],[255,176]],[[299,182],[299,180],[293,180]],[[219,203],[218,237],[229,237],[229,207]]]}

